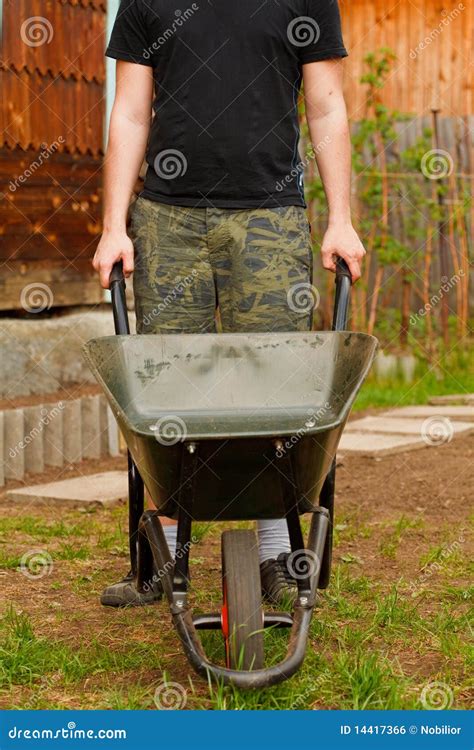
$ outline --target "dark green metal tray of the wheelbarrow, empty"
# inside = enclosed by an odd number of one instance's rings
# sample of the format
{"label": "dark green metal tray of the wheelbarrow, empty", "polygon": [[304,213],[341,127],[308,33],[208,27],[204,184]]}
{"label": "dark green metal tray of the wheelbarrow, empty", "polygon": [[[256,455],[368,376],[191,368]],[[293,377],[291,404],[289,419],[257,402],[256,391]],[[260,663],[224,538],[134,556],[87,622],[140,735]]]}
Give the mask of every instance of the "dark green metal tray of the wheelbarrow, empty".
{"label": "dark green metal tray of the wheelbarrow, empty", "polygon": [[286,454],[314,510],[373,349],[359,333],[110,336],[87,358],[160,513],[177,518],[196,444],[193,518],[224,521],[285,515]]}

